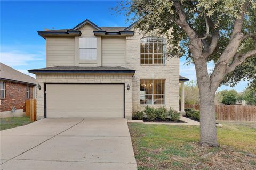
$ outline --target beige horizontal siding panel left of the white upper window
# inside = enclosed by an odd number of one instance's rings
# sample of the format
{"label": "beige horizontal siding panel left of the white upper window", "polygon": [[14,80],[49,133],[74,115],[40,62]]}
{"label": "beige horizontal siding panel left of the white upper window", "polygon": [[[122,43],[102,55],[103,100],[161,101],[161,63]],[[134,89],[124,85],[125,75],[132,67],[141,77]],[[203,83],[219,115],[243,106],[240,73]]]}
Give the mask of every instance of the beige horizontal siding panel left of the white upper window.
{"label": "beige horizontal siding panel left of the white upper window", "polygon": [[46,67],[74,66],[75,38],[47,37],[46,38]]}

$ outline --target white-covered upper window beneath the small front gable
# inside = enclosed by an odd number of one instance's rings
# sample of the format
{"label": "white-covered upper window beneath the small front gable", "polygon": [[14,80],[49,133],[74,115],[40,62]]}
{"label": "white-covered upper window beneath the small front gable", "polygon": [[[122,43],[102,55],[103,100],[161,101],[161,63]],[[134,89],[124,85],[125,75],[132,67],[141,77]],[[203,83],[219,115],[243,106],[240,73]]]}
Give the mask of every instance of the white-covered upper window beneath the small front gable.
{"label": "white-covered upper window beneath the small front gable", "polygon": [[80,60],[97,59],[97,38],[79,38]]}

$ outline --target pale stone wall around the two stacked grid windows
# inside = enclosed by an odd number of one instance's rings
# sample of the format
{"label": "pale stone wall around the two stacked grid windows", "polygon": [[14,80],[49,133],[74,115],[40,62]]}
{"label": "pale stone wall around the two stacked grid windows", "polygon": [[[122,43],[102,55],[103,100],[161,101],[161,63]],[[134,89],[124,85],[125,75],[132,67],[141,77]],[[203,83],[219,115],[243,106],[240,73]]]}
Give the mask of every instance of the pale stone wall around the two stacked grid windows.
{"label": "pale stone wall around the two stacked grid windows", "polygon": [[179,58],[167,58],[166,64],[140,64],[140,39],[135,31],[134,36],[126,37],[126,61],[129,69],[136,70],[132,78],[132,112],[143,110],[140,105],[140,79],[165,79],[165,106],[179,111]]}

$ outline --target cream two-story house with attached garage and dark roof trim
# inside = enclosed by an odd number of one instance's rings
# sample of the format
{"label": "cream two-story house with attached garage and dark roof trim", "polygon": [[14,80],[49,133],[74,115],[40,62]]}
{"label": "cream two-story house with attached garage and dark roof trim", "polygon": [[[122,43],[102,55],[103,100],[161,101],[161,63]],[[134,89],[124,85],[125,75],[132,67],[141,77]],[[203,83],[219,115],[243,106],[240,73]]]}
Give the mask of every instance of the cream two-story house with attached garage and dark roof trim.
{"label": "cream two-story house with attached garage and dark roof trim", "polygon": [[131,118],[151,107],[179,110],[179,58],[166,58],[163,37],[129,27],[38,31],[46,40],[46,68],[36,74],[37,118]]}

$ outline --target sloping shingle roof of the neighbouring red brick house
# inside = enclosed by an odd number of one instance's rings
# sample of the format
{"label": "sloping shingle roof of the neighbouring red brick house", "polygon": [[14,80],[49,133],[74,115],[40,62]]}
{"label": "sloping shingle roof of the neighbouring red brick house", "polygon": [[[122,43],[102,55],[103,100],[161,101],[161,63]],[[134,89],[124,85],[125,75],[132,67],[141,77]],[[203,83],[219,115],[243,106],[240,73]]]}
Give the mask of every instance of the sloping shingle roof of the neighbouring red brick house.
{"label": "sloping shingle roof of the neighbouring red brick house", "polygon": [[36,85],[36,79],[0,63],[0,80]]}

